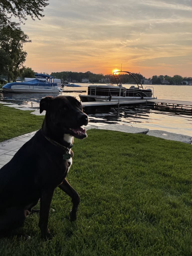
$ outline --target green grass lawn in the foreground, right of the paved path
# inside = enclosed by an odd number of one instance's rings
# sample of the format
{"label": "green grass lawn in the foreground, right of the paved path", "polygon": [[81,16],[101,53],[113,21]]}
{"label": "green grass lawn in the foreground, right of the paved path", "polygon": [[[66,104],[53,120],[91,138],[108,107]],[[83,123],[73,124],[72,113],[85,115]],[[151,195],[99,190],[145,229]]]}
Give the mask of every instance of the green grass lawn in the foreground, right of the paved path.
{"label": "green grass lawn in the foreground, right of the paved path", "polygon": [[70,222],[71,199],[57,188],[52,240],[40,239],[34,214],[23,228],[31,239],[1,239],[0,255],[191,256],[191,145],[115,131],[87,134],[74,141],[67,176],[81,198],[77,220]]}

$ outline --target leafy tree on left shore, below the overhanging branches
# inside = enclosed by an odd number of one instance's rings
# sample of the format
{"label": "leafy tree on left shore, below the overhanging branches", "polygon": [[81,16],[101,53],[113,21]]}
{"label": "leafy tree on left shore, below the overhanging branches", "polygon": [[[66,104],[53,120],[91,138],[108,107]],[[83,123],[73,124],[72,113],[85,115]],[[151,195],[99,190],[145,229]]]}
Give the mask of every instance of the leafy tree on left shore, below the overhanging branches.
{"label": "leafy tree on left shore, below the overhanging branches", "polygon": [[28,36],[20,27],[9,25],[0,29],[0,55],[3,56],[0,65],[0,74],[7,74],[8,82],[20,74],[20,68],[26,60],[27,52],[23,51],[23,45],[27,42]]}

